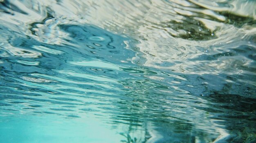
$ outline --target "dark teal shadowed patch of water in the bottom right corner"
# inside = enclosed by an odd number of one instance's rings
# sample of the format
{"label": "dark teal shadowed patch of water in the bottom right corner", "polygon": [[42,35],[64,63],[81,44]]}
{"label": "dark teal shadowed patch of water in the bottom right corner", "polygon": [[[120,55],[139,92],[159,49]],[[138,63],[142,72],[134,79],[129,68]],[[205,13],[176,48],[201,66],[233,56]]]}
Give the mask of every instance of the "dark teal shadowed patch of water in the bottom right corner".
{"label": "dark teal shadowed patch of water in the bottom right corner", "polygon": [[223,142],[229,143],[254,143],[256,141],[256,99],[240,95],[223,94],[216,91],[206,97],[211,103],[211,108],[204,110],[216,113],[213,119],[220,122],[229,131],[231,136]]}

